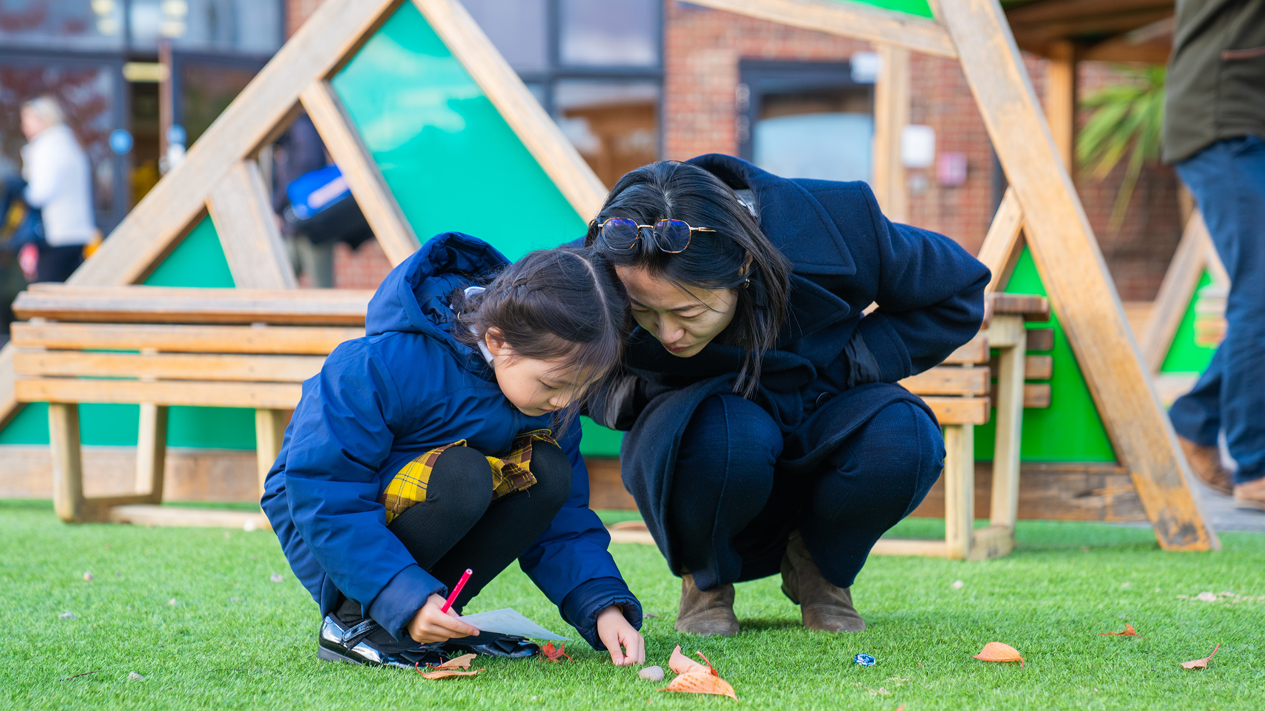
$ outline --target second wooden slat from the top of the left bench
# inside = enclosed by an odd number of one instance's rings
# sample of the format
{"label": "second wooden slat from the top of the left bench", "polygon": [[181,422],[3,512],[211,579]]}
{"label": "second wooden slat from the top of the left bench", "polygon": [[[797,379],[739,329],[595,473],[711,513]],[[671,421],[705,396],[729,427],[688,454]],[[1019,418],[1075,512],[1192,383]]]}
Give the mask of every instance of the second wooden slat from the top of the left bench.
{"label": "second wooden slat from the top of the left bench", "polygon": [[10,329],[18,348],[310,356],[328,356],[339,343],[364,335],[363,328],[342,326],[14,323]]}

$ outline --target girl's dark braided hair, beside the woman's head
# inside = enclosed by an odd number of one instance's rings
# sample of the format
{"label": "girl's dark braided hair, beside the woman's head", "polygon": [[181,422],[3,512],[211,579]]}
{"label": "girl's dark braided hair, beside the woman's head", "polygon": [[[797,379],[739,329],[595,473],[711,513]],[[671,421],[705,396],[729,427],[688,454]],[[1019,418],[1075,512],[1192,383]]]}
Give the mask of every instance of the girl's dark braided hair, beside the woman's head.
{"label": "girl's dark braided hair, beside the woman's head", "polygon": [[483,292],[467,299],[454,291],[452,306],[453,335],[462,343],[477,348],[495,328],[515,356],[562,358],[559,369],[574,367],[595,380],[619,366],[630,330],[627,296],[615,267],[573,247],[529,252]]}

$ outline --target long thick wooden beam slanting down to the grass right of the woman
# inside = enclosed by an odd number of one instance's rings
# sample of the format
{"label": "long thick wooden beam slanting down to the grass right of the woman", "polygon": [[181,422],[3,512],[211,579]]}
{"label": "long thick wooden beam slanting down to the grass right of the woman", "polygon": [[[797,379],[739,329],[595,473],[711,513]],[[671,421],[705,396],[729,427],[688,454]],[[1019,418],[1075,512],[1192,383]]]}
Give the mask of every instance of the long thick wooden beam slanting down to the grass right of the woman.
{"label": "long thick wooden beam slanting down to the grass right of the woman", "polygon": [[1150,387],[1089,220],[997,0],[939,0],[937,16],[1006,175],[1064,333],[1121,462],[1168,550],[1219,548],[1190,492],[1173,425]]}

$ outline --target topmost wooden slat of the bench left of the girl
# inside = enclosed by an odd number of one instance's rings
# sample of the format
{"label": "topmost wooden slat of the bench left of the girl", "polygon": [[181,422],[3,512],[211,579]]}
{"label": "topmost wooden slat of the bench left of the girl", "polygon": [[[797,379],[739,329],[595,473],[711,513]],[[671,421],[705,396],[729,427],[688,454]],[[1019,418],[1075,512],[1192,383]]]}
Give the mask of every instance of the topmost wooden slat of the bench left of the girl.
{"label": "topmost wooden slat of the bench left of the girl", "polygon": [[13,302],[20,319],[91,323],[363,326],[368,290],[176,288],[35,285]]}

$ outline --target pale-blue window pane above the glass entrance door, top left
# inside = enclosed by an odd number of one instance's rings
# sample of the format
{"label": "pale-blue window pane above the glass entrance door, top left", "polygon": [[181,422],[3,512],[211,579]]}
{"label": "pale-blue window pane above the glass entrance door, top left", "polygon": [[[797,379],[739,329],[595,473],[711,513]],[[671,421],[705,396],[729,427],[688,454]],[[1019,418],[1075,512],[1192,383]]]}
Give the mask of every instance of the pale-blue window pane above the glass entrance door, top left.
{"label": "pale-blue window pane above the glass entrance door, top left", "polygon": [[[100,1],[100,0],[97,0]],[[281,47],[278,0],[130,0],[132,46],[271,54]]]}

